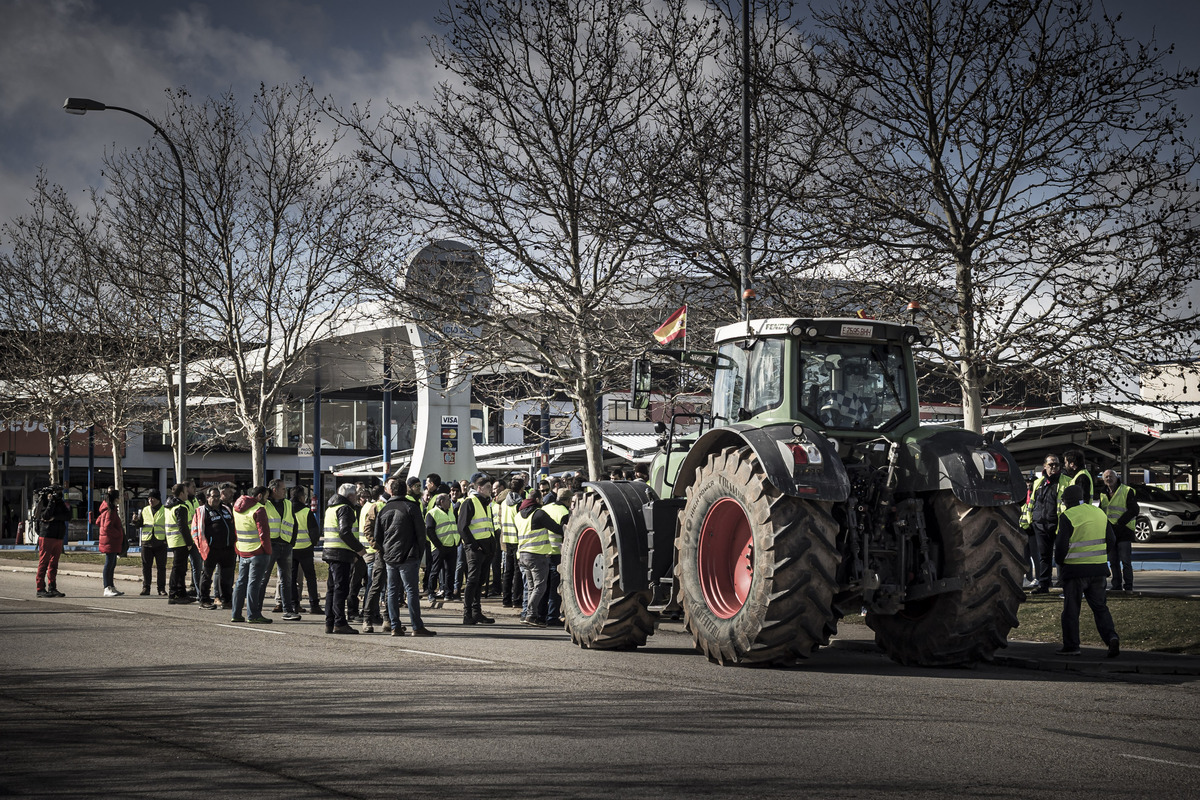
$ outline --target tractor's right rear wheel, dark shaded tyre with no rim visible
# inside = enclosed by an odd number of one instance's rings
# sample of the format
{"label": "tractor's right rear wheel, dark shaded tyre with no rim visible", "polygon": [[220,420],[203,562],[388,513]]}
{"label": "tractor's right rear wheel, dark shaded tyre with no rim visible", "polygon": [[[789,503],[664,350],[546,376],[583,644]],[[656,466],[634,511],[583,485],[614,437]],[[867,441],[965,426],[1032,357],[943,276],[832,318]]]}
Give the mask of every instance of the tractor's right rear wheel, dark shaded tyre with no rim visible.
{"label": "tractor's right rear wheel, dark shaded tyre with no rim visible", "polygon": [[1016,627],[1025,600],[1025,545],[1012,513],[972,507],[943,491],[931,501],[942,577],[962,589],[910,603],[898,614],[866,615],[875,642],[902,664],[928,667],[990,661]]}

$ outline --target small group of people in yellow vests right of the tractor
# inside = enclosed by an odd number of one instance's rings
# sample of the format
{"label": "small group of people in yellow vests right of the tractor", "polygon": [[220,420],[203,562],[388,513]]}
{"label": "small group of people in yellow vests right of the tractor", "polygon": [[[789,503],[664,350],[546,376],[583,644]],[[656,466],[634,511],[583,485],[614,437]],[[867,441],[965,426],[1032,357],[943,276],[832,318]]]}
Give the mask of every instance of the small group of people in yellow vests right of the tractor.
{"label": "small group of people in yellow vests right of the tractor", "polygon": [[1106,593],[1133,591],[1138,513],[1134,488],[1111,469],[1102,473],[1097,487],[1082,451],[1045,457],[1021,507],[1021,529],[1028,541],[1026,588],[1031,594],[1049,594],[1054,571],[1058,571],[1063,596],[1060,654],[1080,652],[1079,613],[1085,599],[1109,657],[1120,654]]}

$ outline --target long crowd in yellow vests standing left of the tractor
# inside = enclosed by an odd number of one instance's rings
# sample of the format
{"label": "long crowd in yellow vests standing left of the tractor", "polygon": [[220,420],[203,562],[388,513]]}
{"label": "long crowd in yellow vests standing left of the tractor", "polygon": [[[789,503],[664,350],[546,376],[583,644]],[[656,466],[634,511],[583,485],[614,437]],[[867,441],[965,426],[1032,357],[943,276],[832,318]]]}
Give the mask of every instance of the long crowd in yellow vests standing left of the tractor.
{"label": "long crowd in yellow vests standing left of the tractor", "polygon": [[[234,622],[265,625],[272,621],[265,607],[275,575],[272,612],[283,621],[302,619],[302,610],[323,615],[326,633],[379,628],[436,636],[421,618],[422,599],[428,608],[461,601],[464,625],[487,625],[494,619],[484,614],[480,600],[488,596],[520,607],[526,625],[562,626],[563,528],[581,486],[580,476],[527,486],[520,474],[493,480],[482,473],[469,481],[443,482],[431,474],[425,481],[392,477],[382,486],[342,483],[319,521],[308,489],[289,489],[280,479],[245,492],[221,483],[199,494],[187,481],[174,485],[166,501],[151,489],[134,521],[140,594],[150,595],[157,584],[169,604],[198,602],[230,612]],[[46,493],[37,518],[37,596],[62,597],[56,573],[70,511],[60,492]],[[114,571],[128,542],[115,489],[101,503],[96,524],[106,558],[103,594],[120,596]],[[329,573],[324,607],[317,545]],[[401,608],[407,608],[407,626]]]}

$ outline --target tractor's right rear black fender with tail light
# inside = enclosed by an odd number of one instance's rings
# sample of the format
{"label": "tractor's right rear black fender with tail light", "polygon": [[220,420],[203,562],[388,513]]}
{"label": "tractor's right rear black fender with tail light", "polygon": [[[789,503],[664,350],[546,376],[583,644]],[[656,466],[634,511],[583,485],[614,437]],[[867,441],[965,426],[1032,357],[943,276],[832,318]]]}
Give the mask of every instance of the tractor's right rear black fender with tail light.
{"label": "tractor's right rear black fender with tail light", "polygon": [[[997,469],[985,469],[990,453]],[[1007,469],[1006,469],[1007,468]],[[1016,459],[998,441],[961,428],[922,428],[900,450],[902,491],[949,489],[968,506],[1006,506],[1025,500],[1025,479]]]}

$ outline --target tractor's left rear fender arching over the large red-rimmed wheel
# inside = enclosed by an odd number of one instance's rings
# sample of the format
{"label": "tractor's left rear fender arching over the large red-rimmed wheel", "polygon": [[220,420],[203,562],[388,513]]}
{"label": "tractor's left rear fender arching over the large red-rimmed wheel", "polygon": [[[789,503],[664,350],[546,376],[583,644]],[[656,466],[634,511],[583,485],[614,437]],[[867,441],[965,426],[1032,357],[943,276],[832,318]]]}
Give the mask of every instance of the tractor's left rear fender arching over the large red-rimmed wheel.
{"label": "tractor's left rear fender arching over the large red-rimmed wheel", "polygon": [[850,477],[838,458],[838,451],[817,431],[805,428],[805,439],[816,447],[821,456],[820,463],[811,459],[808,464],[797,464],[788,443],[796,440],[792,423],[755,427],[751,425],[730,425],[713,428],[692,445],[679,468],[671,494],[685,497],[688,487],[696,480],[700,469],[710,453],[726,447],[750,447],[758,463],[762,464],[767,480],[784,494],[805,500],[826,500],[841,503],[850,497]]}

